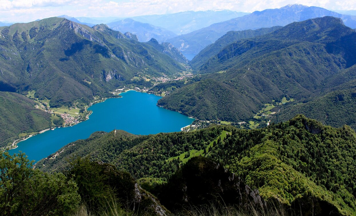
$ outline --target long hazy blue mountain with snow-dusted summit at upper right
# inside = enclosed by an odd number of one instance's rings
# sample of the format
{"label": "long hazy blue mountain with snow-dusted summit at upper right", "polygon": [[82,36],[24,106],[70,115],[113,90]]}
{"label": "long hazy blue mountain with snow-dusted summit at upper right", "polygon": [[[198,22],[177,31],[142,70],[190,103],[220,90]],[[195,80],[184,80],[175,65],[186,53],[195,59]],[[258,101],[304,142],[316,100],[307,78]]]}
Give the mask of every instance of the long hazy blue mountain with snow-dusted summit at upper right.
{"label": "long hazy blue mountain with snow-dusted summit at upper right", "polygon": [[188,34],[179,35],[167,40],[177,47],[183,54],[197,54],[204,47],[215,42],[228,31],[241,31],[247,29],[259,29],[263,27],[285,26],[291,22],[299,22],[307,19],[323,16],[341,18],[346,26],[356,27],[356,17],[342,15],[321,7],[308,7],[305,5],[287,5],[279,9],[266,9],[255,11],[251,14],[237,17],[224,22],[215,23],[203,29]]}

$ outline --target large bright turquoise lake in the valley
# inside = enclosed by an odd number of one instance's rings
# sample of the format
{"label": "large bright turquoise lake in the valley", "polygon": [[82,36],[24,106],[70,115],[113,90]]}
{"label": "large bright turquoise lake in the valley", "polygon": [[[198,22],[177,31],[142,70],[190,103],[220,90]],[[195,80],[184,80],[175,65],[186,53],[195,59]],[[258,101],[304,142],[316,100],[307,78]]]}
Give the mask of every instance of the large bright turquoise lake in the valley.
{"label": "large bright turquoise lake in the valley", "polygon": [[96,131],[110,132],[116,127],[117,130],[141,135],[178,132],[194,120],[158,107],[156,104],[161,97],[154,94],[128,91],[120,95],[122,98],[109,98],[88,108],[93,111],[88,120],[35,135],[17,144],[18,147],[9,153],[22,151],[29,160],[38,161],[70,142],[88,138]]}

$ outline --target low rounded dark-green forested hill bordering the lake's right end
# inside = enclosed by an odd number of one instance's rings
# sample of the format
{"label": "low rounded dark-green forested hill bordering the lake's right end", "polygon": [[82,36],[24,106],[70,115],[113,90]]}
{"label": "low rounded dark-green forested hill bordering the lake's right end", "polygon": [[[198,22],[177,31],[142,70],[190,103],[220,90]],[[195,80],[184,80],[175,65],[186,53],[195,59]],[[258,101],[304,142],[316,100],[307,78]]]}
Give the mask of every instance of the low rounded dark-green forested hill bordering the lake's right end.
{"label": "low rounded dark-green forested hill bordering the lake's right end", "polygon": [[[240,103],[241,101],[245,103]],[[215,79],[203,79],[179,88],[159,99],[157,104],[200,120],[225,121],[250,118],[251,110],[261,108],[261,101],[258,99],[252,103],[248,96]]]}

